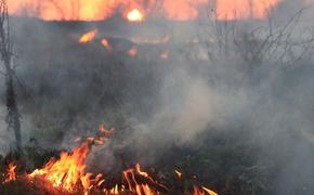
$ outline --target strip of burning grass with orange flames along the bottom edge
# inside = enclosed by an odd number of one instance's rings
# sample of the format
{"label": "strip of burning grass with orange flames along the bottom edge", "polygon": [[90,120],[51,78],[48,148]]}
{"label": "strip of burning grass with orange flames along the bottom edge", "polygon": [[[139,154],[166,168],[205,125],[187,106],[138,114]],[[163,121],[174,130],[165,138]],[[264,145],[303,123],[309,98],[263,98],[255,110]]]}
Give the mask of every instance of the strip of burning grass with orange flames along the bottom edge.
{"label": "strip of burning grass with orange flames along the bottom edge", "polygon": [[[157,177],[153,177],[154,172],[142,170],[140,164],[122,171],[118,183],[107,182],[102,173],[87,172],[86,159],[92,147],[104,144],[114,133],[114,130],[101,126],[95,138],[87,138],[71,152],[62,152],[58,158],[51,158],[42,168],[30,173],[17,173],[17,165],[10,162],[6,173],[0,180],[0,194],[169,194],[173,187],[155,179]],[[183,181],[179,170],[174,174],[179,181]],[[193,183],[193,187],[184,188],[180,194],[217,194],[195,181]]]}

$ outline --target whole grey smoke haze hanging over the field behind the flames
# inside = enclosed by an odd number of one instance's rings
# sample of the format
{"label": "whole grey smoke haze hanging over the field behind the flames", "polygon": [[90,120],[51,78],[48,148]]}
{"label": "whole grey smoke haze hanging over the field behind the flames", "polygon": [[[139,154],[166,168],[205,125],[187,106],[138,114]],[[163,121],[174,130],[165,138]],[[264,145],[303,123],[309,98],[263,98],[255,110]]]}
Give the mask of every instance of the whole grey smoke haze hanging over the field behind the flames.
{"label": "whole grey smoke haze hanging over the field behind the flames", "polygon": [[[286,9],[289,3],[296,2],[283,1],[274,9],[275,36],[285,26],[283,21],[293,16]],[[306,24],[301,26],[312,28]],[[100,24],[13,20],[25,144],[31,138],[42,147],[69,148],[73,140],[93,135],[104,122],[117,129],[117,141],[93,152],[89,159],[91,168],[104,172],[122,167],[121,158],[128,152],[135,154],[133,160],[154,164],[168,156],[173,145],[206,148],[206,160],[213,158],[215,162],[236,157],[221,158],[213,153],[211,158],[211,151],[228,154],[228,144],[231,150],[253,144],[259,147],[258,154],[250,154],[253,166],[276,165],[275,170],[271,166],[269,170],[276,172],[270,177],[273,192],[313,192],[313,44],[303,41],[308,40],[304,28],[263,42],[264,31],[261,37],[250,32],[256,26],[267,26],[265,21],[221,22],[215,24],[220,26],[206,27],[152,22],[138,25],[135,30],[120,24],[102,25],[105,30],[100,29],[92,43],[79,44],[79,36]],[[169,34],[169,46],[136,44],[139,56],[130,57],[127,52],[110,53],[100,43],[106,37],[114,49],[128,51],[133,46],[129,37],[141,38],[152,31],[154,37]],[[272,42],[276,40],[280,41]],[[289,41],[296,44],[285,44],[287,50],[282,50],[282,43]],[[254,55],[264,44],[269,50]],[[166,61],[158,56],[165,50],[170,51]],[[3,145],[8,141],[3,120],[0,128]],[[223,136],[217,143],[214,138],[220,133]],[[239,143],[231,139],[234,136]]]}

